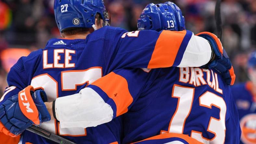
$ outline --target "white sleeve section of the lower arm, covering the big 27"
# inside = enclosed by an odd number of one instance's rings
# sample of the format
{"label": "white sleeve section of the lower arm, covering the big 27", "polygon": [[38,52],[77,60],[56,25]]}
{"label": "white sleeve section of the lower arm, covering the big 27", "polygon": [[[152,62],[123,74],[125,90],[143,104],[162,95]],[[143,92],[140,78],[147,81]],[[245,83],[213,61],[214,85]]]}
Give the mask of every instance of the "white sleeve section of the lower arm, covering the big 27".
{"label": "white sleeve section of the lower arm, covering the big 27", "polygon": [[55,107],[61,128],[98,126],[110,122],[113,118],[111,106],[91,88],[57,98]]}

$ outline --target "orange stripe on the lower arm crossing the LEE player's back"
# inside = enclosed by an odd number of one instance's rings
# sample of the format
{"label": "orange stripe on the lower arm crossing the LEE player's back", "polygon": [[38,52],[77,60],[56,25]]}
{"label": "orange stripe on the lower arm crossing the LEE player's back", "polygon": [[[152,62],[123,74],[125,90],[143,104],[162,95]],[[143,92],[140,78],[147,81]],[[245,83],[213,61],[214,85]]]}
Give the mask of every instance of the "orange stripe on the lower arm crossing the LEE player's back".
{"label": "orange stripe on the lower arm crossing the LEE player's back", "polygon": [[114,72],[96,80],[92,85],[103,90],[116,104],[116,116],[128,111],[128,106],[133,102],[133,97],[128,89],[125,78]]}

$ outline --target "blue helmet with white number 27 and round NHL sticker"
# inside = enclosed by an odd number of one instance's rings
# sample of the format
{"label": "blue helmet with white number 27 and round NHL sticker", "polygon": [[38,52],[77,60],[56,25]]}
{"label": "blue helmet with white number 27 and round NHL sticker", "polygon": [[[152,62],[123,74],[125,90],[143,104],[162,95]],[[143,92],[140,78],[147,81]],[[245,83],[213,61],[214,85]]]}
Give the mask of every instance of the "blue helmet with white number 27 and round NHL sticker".
{"label": "blue helmet with white number 27 and round NHL sticker", "polygon": [[105,25],[110,17],[103,0],[55,0],[54,14],[59,31],[72,28],[92,28],[99,14]]}

